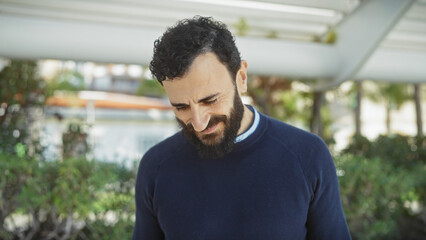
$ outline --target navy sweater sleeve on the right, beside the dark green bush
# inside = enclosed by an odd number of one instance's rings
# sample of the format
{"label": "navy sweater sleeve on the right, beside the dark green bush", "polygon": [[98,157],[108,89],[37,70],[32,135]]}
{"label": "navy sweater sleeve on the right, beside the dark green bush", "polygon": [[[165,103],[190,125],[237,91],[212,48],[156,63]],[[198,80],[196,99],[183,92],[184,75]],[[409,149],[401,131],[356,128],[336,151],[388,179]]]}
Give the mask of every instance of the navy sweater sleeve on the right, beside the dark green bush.
{"label": "navy sweater sleeve on the right, beside the dark green bush", "polygon": [[306,223],[307,239],[351,239],[340,199],[336,167],[327,146],[317,138],[308,154],[308,182],[313,196]]}

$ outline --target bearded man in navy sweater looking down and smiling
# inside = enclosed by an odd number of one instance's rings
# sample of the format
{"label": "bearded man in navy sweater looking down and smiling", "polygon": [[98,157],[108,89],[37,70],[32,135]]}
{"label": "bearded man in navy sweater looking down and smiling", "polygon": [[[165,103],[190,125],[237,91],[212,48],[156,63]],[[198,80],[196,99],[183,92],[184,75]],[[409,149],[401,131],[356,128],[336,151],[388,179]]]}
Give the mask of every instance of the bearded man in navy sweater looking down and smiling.
{"label": "bearded man in navy sweater looking down and smiling", "polygon": [[141,160],[134,240],[350,239],[327,147],[242,104],[247,63],[225,25],[180,21],[150,69],[182,131]]}

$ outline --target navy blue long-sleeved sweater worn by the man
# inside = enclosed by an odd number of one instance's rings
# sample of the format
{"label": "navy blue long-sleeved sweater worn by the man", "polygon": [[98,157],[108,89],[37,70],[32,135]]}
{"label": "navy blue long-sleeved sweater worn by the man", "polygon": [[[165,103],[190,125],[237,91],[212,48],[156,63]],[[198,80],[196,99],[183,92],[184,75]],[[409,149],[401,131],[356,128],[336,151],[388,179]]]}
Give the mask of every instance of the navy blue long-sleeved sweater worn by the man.
{"label": "navy blue long-sleeved sweater worn by the man", "polygon": [[133,240],[159,239],[350,239],[327,146],[262,114],[221,159],[200,159],[176,133],[144,155],[136,181]]}

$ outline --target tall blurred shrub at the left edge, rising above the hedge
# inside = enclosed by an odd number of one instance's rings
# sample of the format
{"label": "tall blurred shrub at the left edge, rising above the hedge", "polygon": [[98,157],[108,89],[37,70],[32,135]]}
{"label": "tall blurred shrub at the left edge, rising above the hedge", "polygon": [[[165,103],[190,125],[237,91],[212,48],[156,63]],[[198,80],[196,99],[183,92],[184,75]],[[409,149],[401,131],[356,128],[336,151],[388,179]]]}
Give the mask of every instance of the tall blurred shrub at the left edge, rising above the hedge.
{"label": "tall blurred shrub at the left edge, rising above the hedge", "polygon": [[[13,60],[0,72],[0,152],[15,154],[25,143],[26,154],[39,155],[37,125],[47,97],[46,84],[34,61]],[[31,132],[31,137],[30,137]]]}

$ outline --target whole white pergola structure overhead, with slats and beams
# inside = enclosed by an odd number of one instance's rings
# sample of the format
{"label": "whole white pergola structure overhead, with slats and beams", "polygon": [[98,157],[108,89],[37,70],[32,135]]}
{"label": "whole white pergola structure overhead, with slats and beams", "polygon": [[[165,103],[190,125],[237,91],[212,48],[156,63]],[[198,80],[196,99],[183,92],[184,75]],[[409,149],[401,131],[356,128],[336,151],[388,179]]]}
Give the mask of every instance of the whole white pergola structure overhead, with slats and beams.
{"label": "whole white pergola structure overhead, with slats and beams", "polygon": [[194,15],[245,29],[252,74],[315,90],[426,82],[426,0],[0,0],[0,57],[148,65],[154,40]]}

